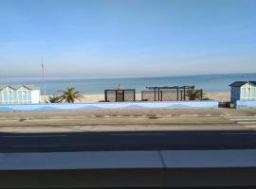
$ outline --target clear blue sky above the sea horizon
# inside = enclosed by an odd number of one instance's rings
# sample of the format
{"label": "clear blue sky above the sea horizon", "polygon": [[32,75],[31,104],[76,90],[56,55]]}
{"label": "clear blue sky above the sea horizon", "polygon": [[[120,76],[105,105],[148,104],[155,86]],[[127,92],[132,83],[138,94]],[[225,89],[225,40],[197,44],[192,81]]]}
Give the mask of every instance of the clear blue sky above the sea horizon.
{"label": "clear blue sky above the sea horizon", "polygon": [[0,76],[256,73],[255,0],[0,0]]}

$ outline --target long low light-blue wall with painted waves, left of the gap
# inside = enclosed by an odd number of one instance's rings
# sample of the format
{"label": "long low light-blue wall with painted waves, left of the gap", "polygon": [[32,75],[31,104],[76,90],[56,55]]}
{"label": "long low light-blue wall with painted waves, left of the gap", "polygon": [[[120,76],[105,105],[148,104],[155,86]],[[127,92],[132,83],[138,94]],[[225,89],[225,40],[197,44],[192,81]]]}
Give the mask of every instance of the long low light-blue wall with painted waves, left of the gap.
{"label": "long low light-blue wall with painted waves, left of the gap", "polygon": [[50,112],[89,110],[143,110],[143,109],[217,109],[218,101],[174,102],[104,102],[77,104],[0,105],[0,112]]}

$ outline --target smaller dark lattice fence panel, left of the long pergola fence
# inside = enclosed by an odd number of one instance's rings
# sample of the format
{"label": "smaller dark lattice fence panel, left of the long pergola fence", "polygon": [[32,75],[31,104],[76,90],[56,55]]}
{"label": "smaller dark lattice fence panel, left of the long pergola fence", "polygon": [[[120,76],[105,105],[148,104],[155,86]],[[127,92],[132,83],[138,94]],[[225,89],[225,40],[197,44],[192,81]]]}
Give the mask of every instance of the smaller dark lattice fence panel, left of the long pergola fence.
{"label": "smaller dark lattice fence panel, left of the long pergola fence", "polygon": [[105,90],[106,102],[127,102],[136,101],[135,89]]}

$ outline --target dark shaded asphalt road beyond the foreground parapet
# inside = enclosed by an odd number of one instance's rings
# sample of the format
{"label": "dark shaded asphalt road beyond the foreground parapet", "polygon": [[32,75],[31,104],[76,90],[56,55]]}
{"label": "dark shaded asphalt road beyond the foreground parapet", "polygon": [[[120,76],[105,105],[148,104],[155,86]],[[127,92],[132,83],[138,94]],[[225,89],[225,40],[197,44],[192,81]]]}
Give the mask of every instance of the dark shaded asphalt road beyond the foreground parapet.
{"label": "dark shaded asphalt road beyond the foreground parapet", "polygon": [[0,152],[256,148],[256,131],[0,133]]}

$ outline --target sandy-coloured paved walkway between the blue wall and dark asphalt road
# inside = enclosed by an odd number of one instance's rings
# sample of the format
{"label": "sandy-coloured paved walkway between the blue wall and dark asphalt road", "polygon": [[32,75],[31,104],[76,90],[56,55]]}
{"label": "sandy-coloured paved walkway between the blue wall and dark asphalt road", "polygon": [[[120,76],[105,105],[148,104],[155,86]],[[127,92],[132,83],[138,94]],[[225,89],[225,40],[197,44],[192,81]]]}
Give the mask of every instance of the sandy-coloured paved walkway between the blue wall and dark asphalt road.
{"label": "sandy-coloured paved walkway between the blue wall and dark asphalt road", "polygon": [[255,130],[256,110],[0,113],[0,132]]}

